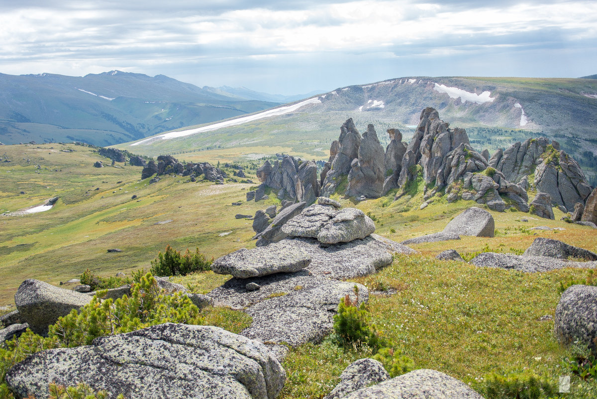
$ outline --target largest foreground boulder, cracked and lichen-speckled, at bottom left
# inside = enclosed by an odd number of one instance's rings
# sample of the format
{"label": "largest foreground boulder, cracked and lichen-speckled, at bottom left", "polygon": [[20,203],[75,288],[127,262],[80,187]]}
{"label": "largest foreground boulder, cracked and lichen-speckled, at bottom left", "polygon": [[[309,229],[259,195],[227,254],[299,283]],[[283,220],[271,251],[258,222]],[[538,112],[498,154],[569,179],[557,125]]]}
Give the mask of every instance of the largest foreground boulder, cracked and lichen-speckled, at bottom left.
{"label": "largest foreground boulder, cracked and lichen-speckled, at bottom left", "polygon": [[51,382],[84,381],[109,398],[274,399],[285,378],[262,343],[219,327],[173,323],[38,352],[6,375],[17,395],[38,398],[48,396]]}

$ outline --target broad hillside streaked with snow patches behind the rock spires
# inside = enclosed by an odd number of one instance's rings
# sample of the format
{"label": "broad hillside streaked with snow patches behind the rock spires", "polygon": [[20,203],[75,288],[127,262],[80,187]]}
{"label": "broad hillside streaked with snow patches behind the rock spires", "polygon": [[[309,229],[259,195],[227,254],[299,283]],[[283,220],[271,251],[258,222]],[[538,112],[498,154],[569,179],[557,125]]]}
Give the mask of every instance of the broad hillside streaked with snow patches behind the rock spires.
{"label": "broad hillside streaked with snow patches behind the rock spires", "polygon": [[[452,127],[467,129],[471,144],[481,151],[548,136],[558,140],[587,170],[595,184],[593,154],[597,154],[597,82],[594,79],[542,78],[407,78],[338,88],[312,97],[304,106],[267,118],[229,121],[177,129],[155,140],[131,142],[118,148],[145,155],[189,154],[216,148],[236,149],[244,156],[270,154],[278,146],[289,154],[328,157],[340,125],[353,118],[364,130],[389,127],[402,131],[408,142],[421,109],[432,106]],[[266,115],[266,114],[261,114]],[[223,126],[217,128],[219,126]],[[198,130],[195,130],[198,129]],[[199,133],[192,134],[193,131]],[[385,134],[380,139],[389,141]],[[242,148],[251,147],[250,151]],[[279,152],[280,150],[278,150]]]}

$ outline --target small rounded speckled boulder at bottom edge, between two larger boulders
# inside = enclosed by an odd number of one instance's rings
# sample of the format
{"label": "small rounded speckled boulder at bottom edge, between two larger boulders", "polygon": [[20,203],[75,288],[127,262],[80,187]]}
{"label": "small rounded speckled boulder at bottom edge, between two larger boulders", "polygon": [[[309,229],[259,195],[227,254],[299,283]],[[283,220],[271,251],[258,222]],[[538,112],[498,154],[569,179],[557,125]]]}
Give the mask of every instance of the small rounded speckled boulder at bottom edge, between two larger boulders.
{"label": "small rounded speckled boulder at bottom edge, between two larger boulders", "polygon": [[390,379],[390,375],[377,360],[364,358],[354,361],[340,375],[340,382],[324,399],[340,399],[357,389]]}

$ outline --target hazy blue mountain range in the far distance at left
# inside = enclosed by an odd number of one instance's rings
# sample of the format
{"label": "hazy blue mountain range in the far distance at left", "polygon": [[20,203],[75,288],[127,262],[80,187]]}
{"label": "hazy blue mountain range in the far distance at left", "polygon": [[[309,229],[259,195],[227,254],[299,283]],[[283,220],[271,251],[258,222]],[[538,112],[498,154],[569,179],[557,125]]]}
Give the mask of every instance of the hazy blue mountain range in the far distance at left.
{"label": "hazy blue mountain range in the far distance at left", "polygon": [[0,74],[0,142],[106,146],[275,105],[164,75],[118,70],[83,77]]}

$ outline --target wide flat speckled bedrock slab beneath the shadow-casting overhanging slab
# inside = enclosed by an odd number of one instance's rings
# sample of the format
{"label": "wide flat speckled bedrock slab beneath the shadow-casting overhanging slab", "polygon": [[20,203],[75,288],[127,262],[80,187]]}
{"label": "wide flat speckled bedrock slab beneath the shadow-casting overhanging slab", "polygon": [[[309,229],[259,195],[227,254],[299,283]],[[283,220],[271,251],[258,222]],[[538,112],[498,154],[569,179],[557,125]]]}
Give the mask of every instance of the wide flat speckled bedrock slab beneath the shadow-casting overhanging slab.
{"label": "wide flat speckled bedrock slab beneath the shadow-casting overhanging slab", "polygon": [[[250,291],[248,283],[259,290]],[[359,303],[367,301],[367,288],[359,287]],[[251,339],[267,343],[298,346],[319,342],[333,326],[338,303],[347,294],[355,299],[355,283],[309,275],[307,271],[274,274],[265,277],[233,278],[211,291],[216,306],[242,309],[253,318],[241,332]]]}

